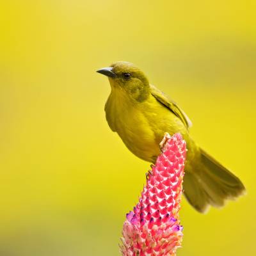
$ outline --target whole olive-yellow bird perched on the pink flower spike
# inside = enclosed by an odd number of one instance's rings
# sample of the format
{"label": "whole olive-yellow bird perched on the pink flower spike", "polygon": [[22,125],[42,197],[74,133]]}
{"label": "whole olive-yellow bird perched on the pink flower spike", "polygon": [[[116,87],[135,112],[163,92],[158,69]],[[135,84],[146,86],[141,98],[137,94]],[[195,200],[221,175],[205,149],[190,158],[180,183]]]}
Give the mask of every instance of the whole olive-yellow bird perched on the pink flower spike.
{"label": "whole olive-yellow bird perched on the pink flower spike", "polygon": [[225,200],[245,192],[243,183],[234,174],[196,145],[189,135],[188,116],[148,83],[138,67],[119,61],[97,72],[108,76],[111,85],[105,105],[109,127],[134,155],[155,163],[164,132],[182,134],[188,148],[184,195],[197,211],[205,212],[209,205],[221,207]]}

